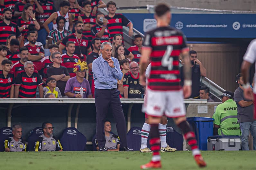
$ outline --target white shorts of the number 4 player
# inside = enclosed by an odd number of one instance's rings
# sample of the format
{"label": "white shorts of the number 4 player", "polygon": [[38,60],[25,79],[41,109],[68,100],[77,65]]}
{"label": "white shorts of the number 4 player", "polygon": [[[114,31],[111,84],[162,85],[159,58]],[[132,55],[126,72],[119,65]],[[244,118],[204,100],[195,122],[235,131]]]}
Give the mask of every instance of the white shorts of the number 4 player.
{"label": "white shorts of the number 4 player", "polygon": [[182,117],[186,116],[183,103],[183,90],[156,91],[146,88],[147,97],[144,98],[143,110],[149,116]]}

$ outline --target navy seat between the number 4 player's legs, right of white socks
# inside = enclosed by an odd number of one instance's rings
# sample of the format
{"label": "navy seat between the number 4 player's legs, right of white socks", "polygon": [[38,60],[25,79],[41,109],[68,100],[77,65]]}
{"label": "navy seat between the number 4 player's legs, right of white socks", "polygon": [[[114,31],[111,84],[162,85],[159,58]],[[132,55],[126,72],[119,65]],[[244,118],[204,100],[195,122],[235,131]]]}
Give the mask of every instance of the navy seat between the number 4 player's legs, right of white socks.
{"label": "navy seat between the number 4 player's legs, right of white socks", "polygon": [[172,127],[166,128],[166,142],[171,148],[183,150],[183,136]]}

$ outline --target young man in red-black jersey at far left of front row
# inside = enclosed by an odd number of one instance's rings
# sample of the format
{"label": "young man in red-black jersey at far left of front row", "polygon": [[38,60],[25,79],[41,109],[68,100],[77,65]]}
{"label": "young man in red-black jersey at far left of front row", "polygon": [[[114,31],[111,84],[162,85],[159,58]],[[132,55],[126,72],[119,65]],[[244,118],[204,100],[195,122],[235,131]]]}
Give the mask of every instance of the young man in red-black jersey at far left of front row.
{"label": "young man in red-black jersey at far left of front row", "polygon": [[12,61],[5,59],[1,66],[3,70],[0,71],[0,98],[14,97],[14,74],[11,71]]}

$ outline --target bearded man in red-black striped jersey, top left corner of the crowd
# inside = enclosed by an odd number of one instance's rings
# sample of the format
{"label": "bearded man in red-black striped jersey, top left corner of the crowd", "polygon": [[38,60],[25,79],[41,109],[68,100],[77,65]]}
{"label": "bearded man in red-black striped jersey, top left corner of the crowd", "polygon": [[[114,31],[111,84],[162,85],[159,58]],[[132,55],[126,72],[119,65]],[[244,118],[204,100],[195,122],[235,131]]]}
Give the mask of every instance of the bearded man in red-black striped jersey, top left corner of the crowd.
{"label": "bearded man in red-black striped jersey, top left corner of the crowd", "polygon": [[5,8],[3,11],[3,15],[5,17],[4,21],[0,21],[0,45],[5,45],[7,37],[11,34],[16,35],[16,38],[19,39],[19,42],[21,42],[21,32],[18,29],[17,24],[14,22],[11,22],[12,19],[12,9],[11,8]]}

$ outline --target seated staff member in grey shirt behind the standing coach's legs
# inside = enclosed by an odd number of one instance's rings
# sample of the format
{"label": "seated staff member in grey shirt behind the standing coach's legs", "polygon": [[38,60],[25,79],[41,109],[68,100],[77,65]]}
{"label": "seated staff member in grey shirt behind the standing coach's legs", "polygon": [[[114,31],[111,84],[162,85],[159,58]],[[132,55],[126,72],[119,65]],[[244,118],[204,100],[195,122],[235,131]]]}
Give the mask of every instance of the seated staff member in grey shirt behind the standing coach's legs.
{"label": "seated staff member in grey shirt behind the standing coach's legs", "polygon": [[[106,144],[105,148],[108,149],[108,151],[119,151],[119,136],[116,136],[111,132],[111,123],[110,121],[106,120],[104,123],[104,132],[105,132],[105,138],[106,138]],[[99,150],[98,142],[96,140],[96,149]]]}

